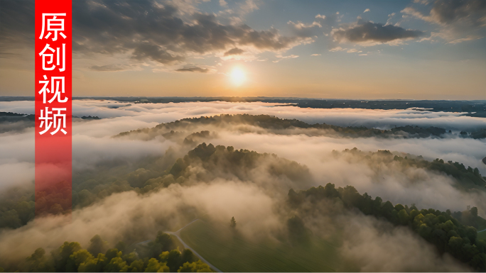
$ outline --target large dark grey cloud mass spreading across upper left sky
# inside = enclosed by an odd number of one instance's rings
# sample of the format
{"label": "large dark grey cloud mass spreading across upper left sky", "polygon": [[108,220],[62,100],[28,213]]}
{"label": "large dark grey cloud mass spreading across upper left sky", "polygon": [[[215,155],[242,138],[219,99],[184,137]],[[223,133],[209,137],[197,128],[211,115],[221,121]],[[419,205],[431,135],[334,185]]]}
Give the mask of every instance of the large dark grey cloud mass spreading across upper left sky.
{"label": "large dark grey cloud mass spreading across upper left sky", "polygon": [[[0,47],[28,41],[33,45],[33,3],[1,1]],[[244,24],[224,25],[214,14],[194,11],[183,20],[172,4],[72,1],[72,49],[85,54],[128,52],[135,60],[173,64],[191,52],[227,51],[238,45],[277,51],[303,43],[303,38],[282,36],[274,28],[257,31]]]}

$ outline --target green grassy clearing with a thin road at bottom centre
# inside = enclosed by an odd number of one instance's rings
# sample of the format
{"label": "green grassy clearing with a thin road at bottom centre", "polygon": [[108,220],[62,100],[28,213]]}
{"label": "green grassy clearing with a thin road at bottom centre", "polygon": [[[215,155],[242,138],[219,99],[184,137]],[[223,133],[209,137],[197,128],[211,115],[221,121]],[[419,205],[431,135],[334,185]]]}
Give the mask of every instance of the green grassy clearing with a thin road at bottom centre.
{"label": "green grassy clearing with a thin road at bottom centre", "polygon": [[354,271],[338,257],[336,247],[312,238],[301,246],[276,240],[249,240],[227,226],[197,221],[180,237],[202,257],[223,272],[335,272]]}

